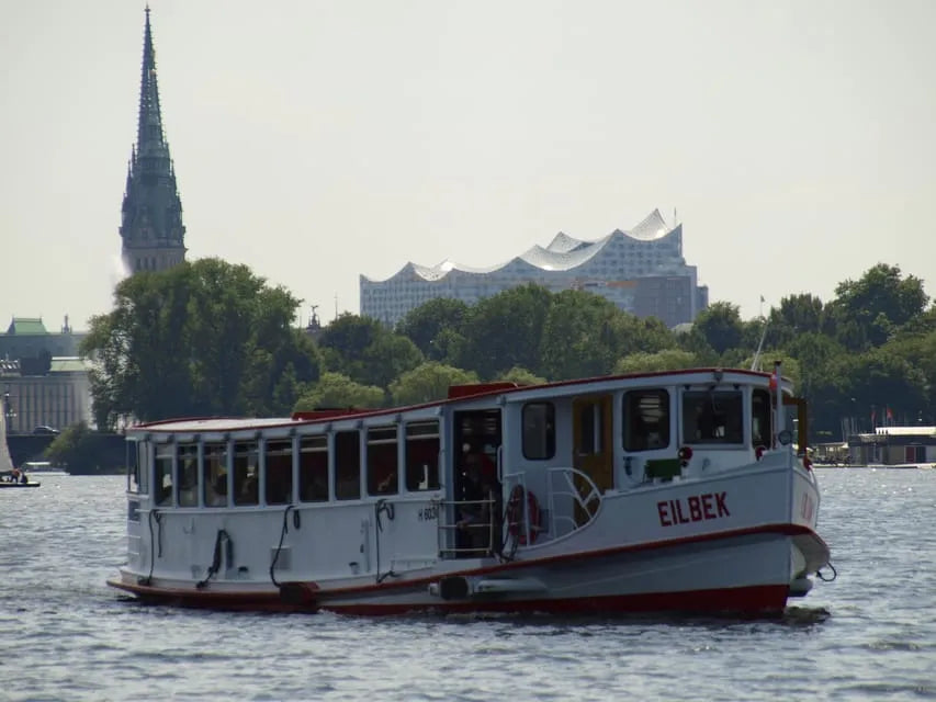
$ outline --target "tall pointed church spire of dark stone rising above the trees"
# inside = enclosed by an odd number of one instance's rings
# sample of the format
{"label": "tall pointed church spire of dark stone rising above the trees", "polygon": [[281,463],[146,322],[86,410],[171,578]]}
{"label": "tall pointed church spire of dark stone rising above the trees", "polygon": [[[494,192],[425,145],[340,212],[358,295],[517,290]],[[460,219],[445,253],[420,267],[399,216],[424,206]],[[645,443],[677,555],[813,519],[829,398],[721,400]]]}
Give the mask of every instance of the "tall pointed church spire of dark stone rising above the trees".
{"label": "tall pointed church spire of dark stone rising above the trees", "polygon": [[139,81],[139,123],[121,215],[121,249],[128,273],[162,271],[185,260],[182,202],[176,188],[169,144],[162,134],[148,5]]}

